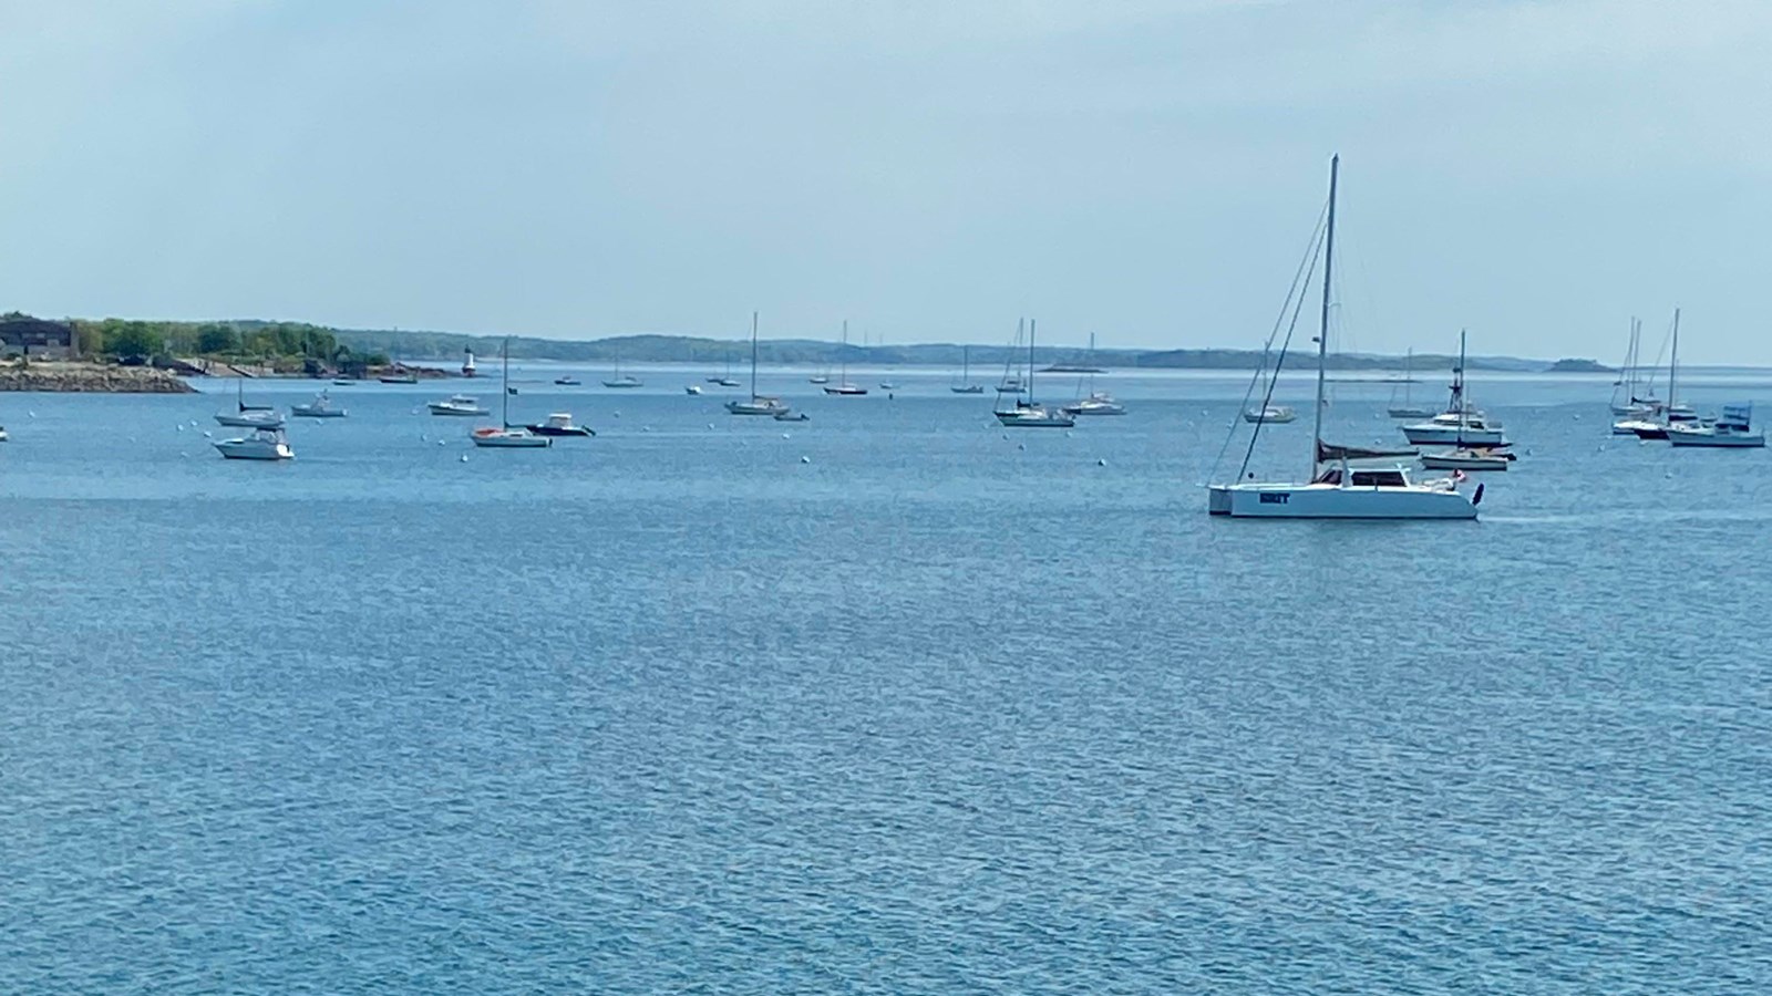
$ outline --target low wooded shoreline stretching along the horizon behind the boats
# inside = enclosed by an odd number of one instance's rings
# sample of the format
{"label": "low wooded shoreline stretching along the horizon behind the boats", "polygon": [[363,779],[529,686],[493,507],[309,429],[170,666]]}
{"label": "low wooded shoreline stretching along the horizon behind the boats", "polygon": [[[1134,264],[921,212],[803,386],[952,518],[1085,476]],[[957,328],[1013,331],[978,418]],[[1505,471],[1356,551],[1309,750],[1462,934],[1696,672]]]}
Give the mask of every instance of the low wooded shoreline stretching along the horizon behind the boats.
{"label": "low wooded shoreline stretching along the horizon behind the boats", "polygon": [[[9,331],[11,330],[11,331]],[[494,356],[501,335],[466,335],[450,331],[330,328],[310,323],[227,319],[227,321],[140,321],[140,319],[62,319],[46,321],[11,312],[0,315],[0,358],[32,362],[80,358],[85,362],[159,367],[186,376],[206,372],[237,376],[377,376],[388,370],[418,376],[443,376],[459,369],[468,351]],[[959,367],[966,351],[975,370],[1017,363],[1026,353],[1012,346],[905,344],[843,346],[813,338],[771,338],[758,342],[764,363],[799,367],[835,367],[838,363],[875,367]],[[567,363],[695,363],[707,369],[741,367],[750,360],[750,342],[700,335],[617,335],[595,340],[510,337],[510,356],[517,360],[556,360]],[[1045,370],[1253,370],[1263,360],[1258,349],[1086,349],[1081,346],[1042,346],[1035,363]],[[1271,360],[1271,358],[1269,358]],[[1302,369],[1304,356],[1288,356],[1288,367]],[[420,369],[413,363],[438,363]],[[1451,354],[1416,353],[1412,369],[1449,370]],[[1402,356],[1368,353],[1331,353],[1333,370],[1400,370]],[[1473,370],[1604,374],[1607,367],[1593,360],[1522,360],[1513,356],[1471,356]],[[987,374],[983,374],[987,376]]]}

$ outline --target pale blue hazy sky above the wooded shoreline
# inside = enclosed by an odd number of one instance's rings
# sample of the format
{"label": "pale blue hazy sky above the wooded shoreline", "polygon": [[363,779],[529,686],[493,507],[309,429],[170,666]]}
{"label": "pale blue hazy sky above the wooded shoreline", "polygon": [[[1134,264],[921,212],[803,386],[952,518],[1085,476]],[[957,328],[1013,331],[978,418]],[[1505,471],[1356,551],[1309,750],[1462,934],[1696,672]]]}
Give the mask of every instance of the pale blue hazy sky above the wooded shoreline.
{"label": "pale blue hazy sky above the wooded shoreline", "polygon": [[[0,308],[1772,363],[1772,4],[0,0]],[[1653,347],[1653,344],[1652,344]]]}

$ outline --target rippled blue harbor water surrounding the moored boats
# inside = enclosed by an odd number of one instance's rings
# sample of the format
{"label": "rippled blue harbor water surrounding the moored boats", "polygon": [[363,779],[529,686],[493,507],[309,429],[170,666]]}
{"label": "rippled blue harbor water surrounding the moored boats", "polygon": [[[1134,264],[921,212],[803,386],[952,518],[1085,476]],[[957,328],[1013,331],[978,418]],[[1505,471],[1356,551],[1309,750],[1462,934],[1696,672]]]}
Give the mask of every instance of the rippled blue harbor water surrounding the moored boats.
{"label": "rippled blue harbor water surrounding the moored boats", "polygon": [[595,440],[361,385],[282,466],[0,395],[0,991],[1772,989],[1772,454],[1497,379],[1481,521],[1246,523],[1235,377],[551,374]]}

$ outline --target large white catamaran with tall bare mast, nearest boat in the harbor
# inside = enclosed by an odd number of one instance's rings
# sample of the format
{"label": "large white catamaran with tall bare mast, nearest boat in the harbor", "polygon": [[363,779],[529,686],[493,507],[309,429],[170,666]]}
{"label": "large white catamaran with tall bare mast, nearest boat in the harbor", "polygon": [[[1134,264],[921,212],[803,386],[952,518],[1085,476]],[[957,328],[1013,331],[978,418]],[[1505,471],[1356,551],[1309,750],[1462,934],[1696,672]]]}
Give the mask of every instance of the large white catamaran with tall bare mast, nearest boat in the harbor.
{"label": "large white catamaran with tall bare mast, nearest boat in the harbor", "polygon": [[[1324,385],[1329,353],[1329,300],[1334,264],[1334,202],[1341,158],[1329,161],[1329,216],[1324,229],[1324,298],[1317,331],[1317,404],[1311,431],[1311,473],[1299,484],[1244,482],[1214,484],[1207,493],[1207,510],[1214,516],[1258,519],[1474,519],[1483,487],[1469,498],[1458,493],[1457,479],[1416,484],[1400,466],[1363,470],[1350,464],[1347,452],[1324,466]],[[1262,431],[1260,425],[1255,429]]]}

